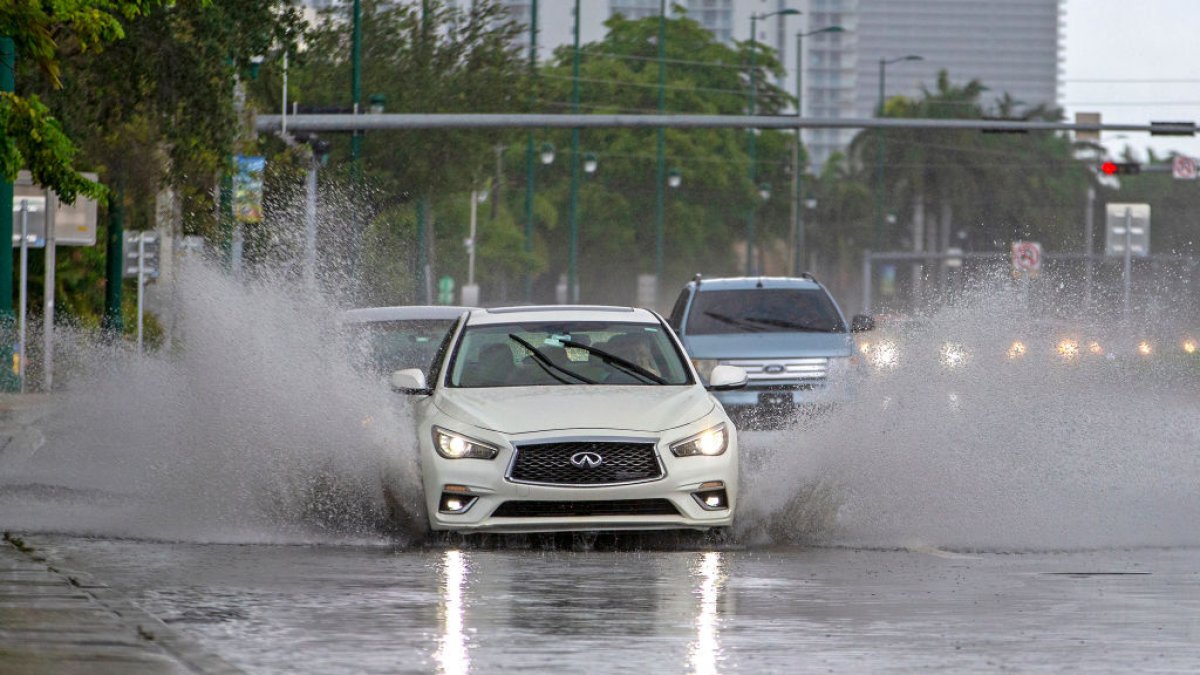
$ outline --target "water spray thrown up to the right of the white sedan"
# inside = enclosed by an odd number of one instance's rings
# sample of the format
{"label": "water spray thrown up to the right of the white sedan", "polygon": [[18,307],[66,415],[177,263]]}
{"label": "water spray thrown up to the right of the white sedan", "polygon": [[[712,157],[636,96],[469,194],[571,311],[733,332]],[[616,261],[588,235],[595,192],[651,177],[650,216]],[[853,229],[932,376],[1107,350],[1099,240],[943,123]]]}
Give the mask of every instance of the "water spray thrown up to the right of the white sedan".
{"label": "water spray thrown up to the right of the white sedan", "polygon": [[852,404],[748,435],[742,536],[1018,550],[1200,544],[1200,363],[1180,348],[1186,328],[1170,317],[1045,316],[992,279],[865,336],[887,357],[868,365]]}

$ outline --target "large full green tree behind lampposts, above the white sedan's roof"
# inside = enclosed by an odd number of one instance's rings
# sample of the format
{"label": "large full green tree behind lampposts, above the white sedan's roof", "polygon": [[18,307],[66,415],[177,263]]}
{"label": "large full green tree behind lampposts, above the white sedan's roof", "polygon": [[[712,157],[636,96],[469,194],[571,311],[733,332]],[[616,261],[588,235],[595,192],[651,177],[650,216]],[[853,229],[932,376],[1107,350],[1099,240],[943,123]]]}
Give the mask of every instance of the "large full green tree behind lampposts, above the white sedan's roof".
{"label": "large full green tree behind lampposts, above the white sedan's roof", "polygon": [[[580,109],[583,113],[652,113],[658,104],[658,17],[612,17],[604,40],[581,47]],[[757,44],[756,109],[776,114],[790,102],[772,84],[781,73],[774,53]],[[668,113],[736,115],[746,112],[750,44],[724,44],[697,22],[678,16],[666,25],[666,109]],[[574,49],[560,47],[540,73],[539,106],[569,112]],[[559,160],[541,172],[539,198],[554,204],[559,217],[545,223],[539,245],[554,255],[542,277],[544,294],[566,264],[565,211],[570,165],[569,131],[544,133]],[[668,166],[683,185],[667,195],[665,217],[667,287],[696,271],[740,270],[736,244],[743,240],[745,214],[760,208],[748,177],[746,133],[738,130],[666,131]],[[580,288],[583,298],[630,301],[638,273],[654,269],[654,130],[586,130],[582,150],[594,153],[599,171],[580,196]],[[772,183],[776,197],[760,215],[762,239],[786,232],[787,199],[782,187],[790,135],[763,132],[758,138],[758,181]],[[779,209],[779,210],[773,210]],[[775,227],[772,227],[775,225]]]}

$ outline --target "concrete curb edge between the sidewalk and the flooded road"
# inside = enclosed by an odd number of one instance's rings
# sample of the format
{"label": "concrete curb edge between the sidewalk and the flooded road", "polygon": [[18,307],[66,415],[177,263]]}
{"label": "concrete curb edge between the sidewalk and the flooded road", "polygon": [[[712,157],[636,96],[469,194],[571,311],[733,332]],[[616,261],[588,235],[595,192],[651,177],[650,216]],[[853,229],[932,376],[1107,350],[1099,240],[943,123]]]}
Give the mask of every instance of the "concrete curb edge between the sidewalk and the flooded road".
{"label": "concrete curb edge between the sidewalk and the flooded road", "polygon": [[0,546],[4,549],[0,551],[0,556],[16,554],[16,556],[24,557],[26,562],[44,568],[47,573],[61,580],[62,584],[86,596],[91,603],[116,616],[126,637],[136,637],[138,641],[156,645],[188,670],[204,675],[241,675],[246,673],[191,638],[184,637],[161,619],[137,607],[107,584],[98,581],[90,573],[65,567],[60,561],[52,560],[47,549],[31,546],[8,532],[4,533],[4,542],[0,543]]}

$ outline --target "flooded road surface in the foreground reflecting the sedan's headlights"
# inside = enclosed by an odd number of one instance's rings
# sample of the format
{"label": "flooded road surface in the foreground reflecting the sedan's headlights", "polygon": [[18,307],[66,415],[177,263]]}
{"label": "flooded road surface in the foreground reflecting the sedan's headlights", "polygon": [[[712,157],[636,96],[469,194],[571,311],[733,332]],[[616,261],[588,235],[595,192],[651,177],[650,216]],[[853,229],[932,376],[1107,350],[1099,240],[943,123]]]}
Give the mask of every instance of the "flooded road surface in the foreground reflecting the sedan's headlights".
{"label": "flooded road surface in the foreground reflecting the sedan's headlights", "polygon": [[259,673],[1200,667],[1193,548],[35,544]]}

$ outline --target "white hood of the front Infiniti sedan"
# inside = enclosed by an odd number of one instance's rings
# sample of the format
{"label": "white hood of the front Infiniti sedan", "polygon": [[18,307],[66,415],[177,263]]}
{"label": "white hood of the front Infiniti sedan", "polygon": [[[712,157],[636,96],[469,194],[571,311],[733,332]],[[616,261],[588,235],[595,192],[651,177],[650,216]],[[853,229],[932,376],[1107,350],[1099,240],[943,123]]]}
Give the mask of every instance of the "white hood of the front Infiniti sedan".
{"label": "white hood of the front Infiniti sedan", "polygon": [[695,422],[715,404],[704,389],[685,387],[503,387],[443,389],[434,405],[445,414],[502,434],[565,429],[662,431]]}

